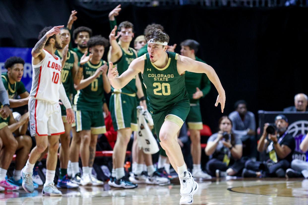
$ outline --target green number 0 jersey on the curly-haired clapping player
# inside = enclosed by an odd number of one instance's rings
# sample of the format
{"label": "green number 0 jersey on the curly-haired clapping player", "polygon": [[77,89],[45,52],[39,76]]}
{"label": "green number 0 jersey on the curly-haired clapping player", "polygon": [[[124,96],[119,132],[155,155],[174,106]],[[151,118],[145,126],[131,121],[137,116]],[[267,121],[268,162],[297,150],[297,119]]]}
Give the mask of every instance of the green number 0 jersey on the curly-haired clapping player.
{"label": "green number 0 jersey on the curly-haired clapping player", "polygon": [[[93,65],[90,61],[83,65],[83,77],[94,75],[96,69],[104,65],[106,62],[101,60],[99,64]],[[74,104],[77,105],[76,110],[101,111],[103,106],[103,76],[99,75],[90,85],[84,89],[78,90],[74,98]]]}

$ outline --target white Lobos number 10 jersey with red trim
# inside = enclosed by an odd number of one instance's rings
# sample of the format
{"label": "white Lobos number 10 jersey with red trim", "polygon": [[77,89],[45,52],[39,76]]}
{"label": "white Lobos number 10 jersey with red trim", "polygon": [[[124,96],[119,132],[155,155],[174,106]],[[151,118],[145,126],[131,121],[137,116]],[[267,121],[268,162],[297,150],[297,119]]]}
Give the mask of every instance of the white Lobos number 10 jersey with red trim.
{"label": "white Lobos number 10 jersey with red trim", "polygon": [[38,100],[51,102],[59,101],[59,88],[61,77],[61,61],[54,57],[47,50],[45,58],[37,65],[32,60],[32,87],[30,97]]}

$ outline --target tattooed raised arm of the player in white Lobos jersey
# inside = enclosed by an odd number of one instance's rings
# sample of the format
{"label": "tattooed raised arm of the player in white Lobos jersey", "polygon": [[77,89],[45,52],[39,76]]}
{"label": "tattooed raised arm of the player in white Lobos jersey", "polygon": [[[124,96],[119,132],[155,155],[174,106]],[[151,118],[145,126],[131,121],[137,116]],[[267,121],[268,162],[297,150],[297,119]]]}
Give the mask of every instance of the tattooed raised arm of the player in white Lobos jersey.
{"label": "tattooed raised arm of the player in white Lobos jersey", "polygon": [[59,34],[60,28],[64,26],[55,26],[51,30],[47,31],[47,33],[35,44],[34,48],[31,51],[31,55],[34,58],[33,64],[36,65],[40,61],[42,61],[45,57],[45,53],[42,52],[43,48],[48,40],[49,37]]}

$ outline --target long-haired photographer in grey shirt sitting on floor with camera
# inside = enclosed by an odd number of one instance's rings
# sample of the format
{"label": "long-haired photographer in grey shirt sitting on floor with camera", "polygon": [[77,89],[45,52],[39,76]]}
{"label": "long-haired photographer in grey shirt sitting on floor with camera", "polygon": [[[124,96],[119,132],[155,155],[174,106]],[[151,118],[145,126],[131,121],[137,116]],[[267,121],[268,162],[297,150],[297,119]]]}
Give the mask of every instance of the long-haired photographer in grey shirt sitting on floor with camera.
{"label": "long-haired photographer in grey shirt sitting on floor with camera", "polygon": [[210,157],[206,164],[208,173],[212,176],[236,175],[244,168],[241,161],[242,141],[232,133],[232,121],[228,116],[219,119],[219,132],[210,136],[205,154]]}

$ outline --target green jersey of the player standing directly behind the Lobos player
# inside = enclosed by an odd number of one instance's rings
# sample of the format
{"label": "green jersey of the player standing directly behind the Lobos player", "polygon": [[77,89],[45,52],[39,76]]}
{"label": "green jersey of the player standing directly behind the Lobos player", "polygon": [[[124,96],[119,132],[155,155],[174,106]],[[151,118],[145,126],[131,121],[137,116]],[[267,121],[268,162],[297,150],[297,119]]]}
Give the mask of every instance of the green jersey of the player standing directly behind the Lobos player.
{"label": "green jersey of the player standing directly behind the Lobos player", "polygon": [[[55,51],[55,54],[62,59],[62,52],[58,50]],[[69,98],[71,92],[72,85],[74,85],[72,69],[74,67],[75,57],[74,53],[71,50],[67,52],[67,60],[65,62],[64,67],[62,67],[61,78],[62,84],[64,86],[67,97]]]}

